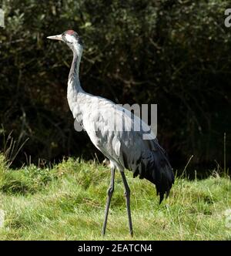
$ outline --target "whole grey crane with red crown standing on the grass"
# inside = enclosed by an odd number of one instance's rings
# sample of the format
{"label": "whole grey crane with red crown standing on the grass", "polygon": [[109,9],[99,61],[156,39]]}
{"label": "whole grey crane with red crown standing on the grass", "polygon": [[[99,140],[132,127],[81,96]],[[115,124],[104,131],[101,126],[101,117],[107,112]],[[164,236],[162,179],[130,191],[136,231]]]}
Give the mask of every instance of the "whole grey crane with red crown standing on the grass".
{"label": "whole grey crane with red crown standing on the grass", "polygon": [[[76,32],[68,31],[62,35],[55,35],[49,39],[59,39],[66,42],[73,52],[72,67],[69,72],[68,102],[76,122],[81,123],[88,133],[92,143],[105,157],[109,158],[112,169],[109,197],[105,211],[105,224],[108,216],[109,204],[114,190],[114,170],[122,173],[126,187],[126,202],[129,214],[129,228],[132,234],[132,221],[129,213],[129,187],[126,183],[124,170],[133,172],[133,177],[145,178],[156,184],[161,203],[164,194],[169,195],[169,190],[174,183],[172,167],[165,150],[159,146],[156,136],[149,133],[149,140],[143,140],[144,130],[149,130],[139,117],[134,116],[129,110],[117,106],[109,99],[92,96],[85,93],[79,82],[79,63],[82,56],[82,41]],[[113,121],[115,121],[113,123]],[[114,126],[113,126],[114,125]],[[136,131],[135,126],[142,126]],[[114,127],[114,129],[112,129]]]}

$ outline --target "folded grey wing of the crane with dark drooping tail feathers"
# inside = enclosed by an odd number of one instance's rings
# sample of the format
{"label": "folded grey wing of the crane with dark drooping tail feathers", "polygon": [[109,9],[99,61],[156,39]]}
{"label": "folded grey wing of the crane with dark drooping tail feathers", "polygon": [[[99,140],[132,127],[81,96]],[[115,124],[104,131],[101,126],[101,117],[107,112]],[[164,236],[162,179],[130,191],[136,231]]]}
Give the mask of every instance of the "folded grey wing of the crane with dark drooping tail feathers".
{"label": "folded grey wing of the crane with dark drooping tail feathers", "polygon": [[[146,132],[149,126],[139,117],[107,99],[97,100],[97,109],[89,109],[85,112],[87,116],[83,116],[83,125],[92,143],[119,167],[132,170],[133,177],[139,175],[156,184],[161,203],[174,183],[165,150],[152,131]],[[143,140],[144,134],[149,140]]]}

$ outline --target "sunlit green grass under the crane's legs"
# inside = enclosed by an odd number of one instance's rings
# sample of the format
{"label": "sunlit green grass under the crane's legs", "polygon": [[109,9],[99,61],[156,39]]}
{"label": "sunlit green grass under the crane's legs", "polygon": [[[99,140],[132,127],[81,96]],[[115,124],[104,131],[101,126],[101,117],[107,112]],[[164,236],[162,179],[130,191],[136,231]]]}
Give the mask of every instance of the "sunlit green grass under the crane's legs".
{"label": "sunlit green grass under the crane's legs", "polygon": [[129,236],[123,185],[115,192],[105,237],[101,236],[109,168],[64,160],[52,169],[6,167],[0,155],[1,240],[230,240],[225,211],[231,208],[229,177],[176,179],[159,206],[156,189],[126,172],[131,189],[134,237]]}

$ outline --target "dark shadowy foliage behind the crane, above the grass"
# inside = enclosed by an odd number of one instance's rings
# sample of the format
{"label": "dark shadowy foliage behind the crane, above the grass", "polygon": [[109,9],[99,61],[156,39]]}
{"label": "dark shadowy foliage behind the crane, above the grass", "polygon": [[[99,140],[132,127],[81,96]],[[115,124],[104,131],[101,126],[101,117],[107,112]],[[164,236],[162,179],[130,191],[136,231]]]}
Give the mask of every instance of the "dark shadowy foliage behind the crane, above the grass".
{"label": "dark shadowy foliage behind the crane, above the grass", "polygon": [[[1,3],[1,2],[0,2]],[[82,35],[85,91],[115,103],[157,103],[158,137],[173,167],[230,161],[229,1],[3,0],[0,28],[0,147],[12,130],[15,164],[95,157],[76,133],[66,99],[72,52],[48,35]]]}

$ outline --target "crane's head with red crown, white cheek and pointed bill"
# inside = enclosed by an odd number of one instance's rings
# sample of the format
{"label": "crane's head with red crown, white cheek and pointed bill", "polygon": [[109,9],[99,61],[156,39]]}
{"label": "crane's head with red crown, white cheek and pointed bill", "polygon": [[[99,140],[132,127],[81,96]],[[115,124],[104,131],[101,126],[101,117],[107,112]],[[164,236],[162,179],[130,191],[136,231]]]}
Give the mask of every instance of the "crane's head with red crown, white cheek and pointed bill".
{"label": "crane's head with red crown, white cheek and pointed bill", "polygon": [[81,37],[78,35],[77,32],[73,30],[67,30],[60,35],[52,35],[52,36],[48,36],[47,38],[63,41],[67,45],[69,45],[71,49],[74,49],[78,46],[81,46],[82,48],[83,46]]}

